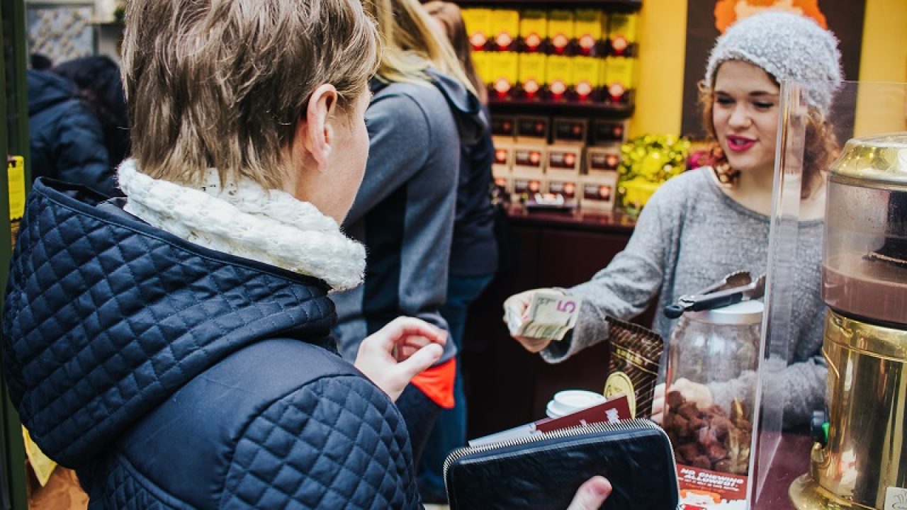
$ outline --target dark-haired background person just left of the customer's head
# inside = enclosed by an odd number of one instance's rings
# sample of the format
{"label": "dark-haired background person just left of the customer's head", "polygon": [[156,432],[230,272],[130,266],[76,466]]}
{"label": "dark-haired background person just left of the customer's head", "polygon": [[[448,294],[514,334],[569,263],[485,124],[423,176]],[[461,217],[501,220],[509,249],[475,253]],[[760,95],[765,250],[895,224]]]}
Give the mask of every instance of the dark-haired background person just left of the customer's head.
{"label": "dark-haired background person just left of the customer's head", "polygon": [[75,83],[76,95],[97,115],[111,168],[116,169],[129,155],[130,147],[120,66],[106,55],[95,55],[64,62],[53,71]]}

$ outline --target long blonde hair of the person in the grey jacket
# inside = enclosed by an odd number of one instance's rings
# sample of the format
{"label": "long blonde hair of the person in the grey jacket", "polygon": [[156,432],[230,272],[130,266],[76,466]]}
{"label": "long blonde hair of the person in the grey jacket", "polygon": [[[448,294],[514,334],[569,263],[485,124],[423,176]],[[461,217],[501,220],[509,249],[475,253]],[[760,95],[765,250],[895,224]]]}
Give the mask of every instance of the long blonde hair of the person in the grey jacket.
{"label": "long blonde hair of the person in the grey jacket", "polygon": [[366,12],[375,17],[384,53],[377,78],[387,82],[425,83],[434,67],[476,93],[453,47],[416,0],[364,0]]}

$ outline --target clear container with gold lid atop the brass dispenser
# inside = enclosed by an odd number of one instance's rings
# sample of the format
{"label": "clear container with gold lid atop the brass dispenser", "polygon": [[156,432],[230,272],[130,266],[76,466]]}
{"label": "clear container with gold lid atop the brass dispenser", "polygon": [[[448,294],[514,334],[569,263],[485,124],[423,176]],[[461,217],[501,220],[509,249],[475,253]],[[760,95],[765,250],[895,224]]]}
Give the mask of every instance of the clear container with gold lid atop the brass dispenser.
{"label": "clear container with gold lid atop the brass dispenser", "polygon": [[828,179],[822,299],[854,319],[907,325],[907,132],[854,138]]}

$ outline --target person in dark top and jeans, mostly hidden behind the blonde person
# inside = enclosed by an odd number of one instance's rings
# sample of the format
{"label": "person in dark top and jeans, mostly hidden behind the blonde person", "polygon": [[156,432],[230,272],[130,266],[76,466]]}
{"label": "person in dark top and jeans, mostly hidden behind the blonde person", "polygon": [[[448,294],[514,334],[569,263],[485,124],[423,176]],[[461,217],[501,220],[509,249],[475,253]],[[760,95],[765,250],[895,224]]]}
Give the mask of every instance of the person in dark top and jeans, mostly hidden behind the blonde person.
{"label": "person in dark top and jeans, mostly hidden behind the blonde person", "polygon": [[[449,2],[432,1],[423,5],[453,46],[463,73],[483,105],[486,118],[488,91],[473,64],[472,46],[463,24],[460,8]],[[444,458],[454,448],[466,444],[466,395],[460,353],[467,311],[491,283],[498,268],[498,247],[494,237],[494,210],[491,200],[494,145],[491,128],[485,129],[474,143],[460,145],[460,174],[457,182],[456,211],[453,220],[450,269],[447,273],[447,299],[441,315],[447,320],[451,339],[457,348],[453,409],[444,409],[435,423],[418,466],[419,490],[424,501],[442,503]]]}

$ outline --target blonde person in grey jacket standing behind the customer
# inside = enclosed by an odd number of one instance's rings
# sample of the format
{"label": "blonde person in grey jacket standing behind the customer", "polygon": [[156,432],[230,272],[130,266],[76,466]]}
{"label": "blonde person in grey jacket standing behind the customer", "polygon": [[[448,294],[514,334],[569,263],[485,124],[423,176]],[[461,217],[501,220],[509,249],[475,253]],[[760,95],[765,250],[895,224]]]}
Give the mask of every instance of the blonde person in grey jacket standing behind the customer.
{"label": "blonde person in grey jacket standing behind the customer", "polygon": [[[365,282],[335,295],[346,358],[389,320],[406,315],[448,329],[447,299],[461,144],[486,129],[482,105],[444,34],[417,0],[364,1],[385,43],[366,111],[366,175],[346,217],[368,253]],[[442,408],[453,407],[453,342],[397,401],[418,464]]]}

